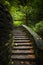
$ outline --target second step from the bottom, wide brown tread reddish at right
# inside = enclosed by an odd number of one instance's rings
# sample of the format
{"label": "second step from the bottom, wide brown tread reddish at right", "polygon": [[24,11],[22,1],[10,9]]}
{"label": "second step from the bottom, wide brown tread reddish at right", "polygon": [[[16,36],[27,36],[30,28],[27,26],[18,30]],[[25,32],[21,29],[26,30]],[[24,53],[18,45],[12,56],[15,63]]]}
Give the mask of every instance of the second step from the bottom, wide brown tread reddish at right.
{"label": "second step from the bottom, wide brown tread reddish at right", "polygon": [[21,59],[21,60],[33,60],[33,59],[35,59],[36,57],[35,57],[35,55],[33,54],[33,55],[12,55],[11,58],[12,58],[13,60],[19,60],[19,59]]}

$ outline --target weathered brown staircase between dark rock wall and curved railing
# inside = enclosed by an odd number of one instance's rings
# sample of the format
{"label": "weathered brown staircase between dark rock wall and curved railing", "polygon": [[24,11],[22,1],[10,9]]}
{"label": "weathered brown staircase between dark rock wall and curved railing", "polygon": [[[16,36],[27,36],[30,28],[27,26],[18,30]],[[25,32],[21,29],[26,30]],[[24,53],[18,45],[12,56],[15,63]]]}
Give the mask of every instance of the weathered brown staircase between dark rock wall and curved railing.
{"label": "weathered brown staircase between dark rock wall and curved railing", "polygon": [[31,37],[22,28],[14,30],[12,65],[37,65],[34,45]]}

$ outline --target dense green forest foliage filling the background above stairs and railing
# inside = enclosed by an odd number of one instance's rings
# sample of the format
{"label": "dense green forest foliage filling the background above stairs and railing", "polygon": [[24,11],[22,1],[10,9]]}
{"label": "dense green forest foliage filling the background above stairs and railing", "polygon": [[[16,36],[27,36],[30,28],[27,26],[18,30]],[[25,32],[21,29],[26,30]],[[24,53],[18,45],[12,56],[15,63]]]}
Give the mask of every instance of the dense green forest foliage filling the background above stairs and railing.
{"label": "dense green forest foliage filling the background above stairs and railing", "polygon": [[26,24],[43,34],[43,0],[0,0],[9,9],[14,25]]}

